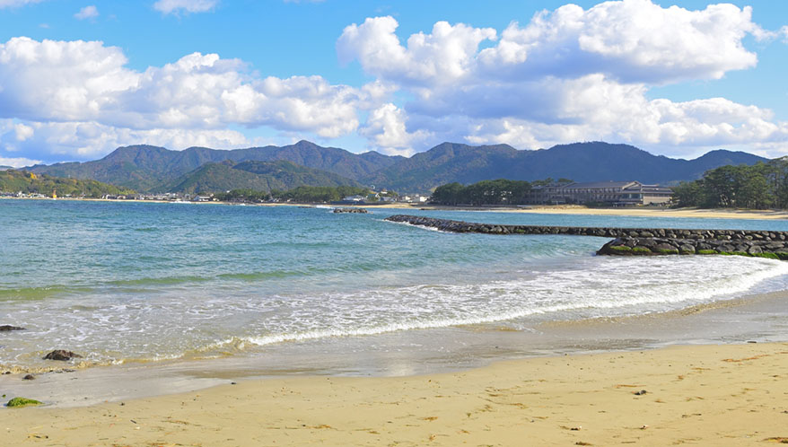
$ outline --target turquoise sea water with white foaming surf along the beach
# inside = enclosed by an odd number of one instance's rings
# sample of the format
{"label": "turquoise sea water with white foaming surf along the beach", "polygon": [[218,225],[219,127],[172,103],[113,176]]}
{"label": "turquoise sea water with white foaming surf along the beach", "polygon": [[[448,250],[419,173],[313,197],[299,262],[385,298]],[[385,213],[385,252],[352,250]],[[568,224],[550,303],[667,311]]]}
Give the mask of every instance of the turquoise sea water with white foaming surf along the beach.
{"label": "turquoise sea water with white foaming surf along the beach", "polygon": [[[607,239],[428,231],[396,210],[0,200],[0,369],[88,364],[468,324],[660,312],[782,290],[788,263],[615,259]],[[788,230],[782,221],[408,211],[489,223]]]}

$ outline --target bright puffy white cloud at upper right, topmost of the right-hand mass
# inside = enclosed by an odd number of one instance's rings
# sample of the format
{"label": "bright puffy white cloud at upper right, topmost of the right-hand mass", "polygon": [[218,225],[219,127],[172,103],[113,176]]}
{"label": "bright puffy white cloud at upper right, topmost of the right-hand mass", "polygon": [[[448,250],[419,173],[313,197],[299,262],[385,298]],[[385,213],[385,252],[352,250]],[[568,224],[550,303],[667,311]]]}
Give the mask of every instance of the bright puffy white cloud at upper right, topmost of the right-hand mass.
{"label": "bright puffy white cloud at upper right, topmost of the right-hand mass", "polygon": [[733,4],[700,11],[662,8],[651,0],[605,2],[588,10],[567,4],[538,13],[523,28],[513,22],[479,58],[488,71],[503,67],[517,76],[603,73],[648,83],[719,79],[757,63],[741,43],[761,30],[751,13]]}

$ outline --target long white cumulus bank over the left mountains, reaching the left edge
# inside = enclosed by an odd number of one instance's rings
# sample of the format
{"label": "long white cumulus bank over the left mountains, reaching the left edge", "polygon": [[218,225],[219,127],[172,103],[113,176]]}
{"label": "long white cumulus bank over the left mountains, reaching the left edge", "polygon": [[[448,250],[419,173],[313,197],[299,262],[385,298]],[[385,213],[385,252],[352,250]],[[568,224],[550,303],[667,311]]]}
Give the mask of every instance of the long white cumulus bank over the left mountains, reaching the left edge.
{"label": "long white cumulus bank over the left mountains, reaching the left edge", "polygon": [[[32,140],[78,157],[143,137],[182,147],[189,133],[201,138],[192,138],[195,144],[241,144],[240,132],[226,130],[232,126],[335,138],[355,132],[359,108],[376,107],[391,88],[335,85],[320,76],[261,78],[243,61],[215,54],[194,53],[141,72],[127,68],[120,48],[98,41],[0,43],[0,118],[21,120],[35,129]],[[101,128],[101,137],[85,134],[87,128]],[[17,145],[16,136],[26,132],[0,142]]]}

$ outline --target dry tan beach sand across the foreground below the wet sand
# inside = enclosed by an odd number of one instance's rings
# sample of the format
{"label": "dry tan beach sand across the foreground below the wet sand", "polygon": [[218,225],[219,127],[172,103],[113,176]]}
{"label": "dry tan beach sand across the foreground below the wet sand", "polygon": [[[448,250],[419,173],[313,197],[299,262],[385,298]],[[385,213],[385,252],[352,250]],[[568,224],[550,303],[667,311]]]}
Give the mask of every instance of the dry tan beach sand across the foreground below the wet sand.
{"label": "dry tan beach sand across the foreground below the wet sand", "polygon": [[788,343],[250,380],[2,420],[0,445],[769,445],[788,439]]}

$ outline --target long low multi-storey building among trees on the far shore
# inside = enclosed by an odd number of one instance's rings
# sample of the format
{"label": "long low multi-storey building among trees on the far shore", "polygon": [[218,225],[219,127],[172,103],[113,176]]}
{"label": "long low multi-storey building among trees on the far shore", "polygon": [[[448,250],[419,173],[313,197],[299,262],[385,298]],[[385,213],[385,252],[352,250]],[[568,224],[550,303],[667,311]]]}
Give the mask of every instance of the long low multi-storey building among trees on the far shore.
{"label": "long low multi-storey building among trees on the far shore", "polygon": [[597,181],[534,187],[526,200],[532,205],[601,203],[626,206],[661,205],[670,202],[672,196],[672,189],[659,185],[644,185],[639,181]]}

